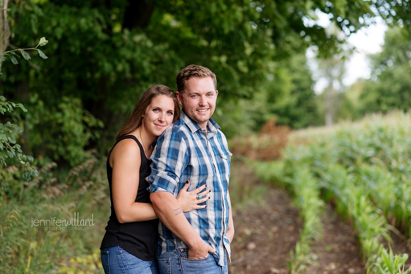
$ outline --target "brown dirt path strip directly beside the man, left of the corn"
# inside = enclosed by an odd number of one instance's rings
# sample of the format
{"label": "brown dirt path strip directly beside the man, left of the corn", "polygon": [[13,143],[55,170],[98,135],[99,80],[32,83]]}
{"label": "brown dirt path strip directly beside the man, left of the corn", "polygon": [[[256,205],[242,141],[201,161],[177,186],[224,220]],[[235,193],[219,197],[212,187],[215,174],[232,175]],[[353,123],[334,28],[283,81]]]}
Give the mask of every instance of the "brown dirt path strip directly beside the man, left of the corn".
{"label": "brown dirt path strip directly beside the man, left of the corn", "polygon": [[229,273],[287,273],[290,250],[298,240],[298,209],[287,193],[270,189],[259,204],[233,211],[235,239]]}

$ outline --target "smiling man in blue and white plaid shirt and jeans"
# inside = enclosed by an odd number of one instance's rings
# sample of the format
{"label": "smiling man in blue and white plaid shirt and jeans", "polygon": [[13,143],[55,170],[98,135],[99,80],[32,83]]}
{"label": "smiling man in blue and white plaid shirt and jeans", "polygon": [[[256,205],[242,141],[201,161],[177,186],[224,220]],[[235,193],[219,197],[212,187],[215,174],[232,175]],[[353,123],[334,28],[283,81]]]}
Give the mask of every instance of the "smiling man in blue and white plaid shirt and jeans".
{"label": "smiling man in blue and white plaid shirt and jeans", "polygon": [[[150,199],[160,218],[160,273],[228,273],[227,256],[234,237],[228,183],[231,152],[211,119],[218,95],[215,74],[190,65],[177,75],[180,118],[161,135],[152,154]],[[176,197],[206,184],[207,207],[183,213]]]}

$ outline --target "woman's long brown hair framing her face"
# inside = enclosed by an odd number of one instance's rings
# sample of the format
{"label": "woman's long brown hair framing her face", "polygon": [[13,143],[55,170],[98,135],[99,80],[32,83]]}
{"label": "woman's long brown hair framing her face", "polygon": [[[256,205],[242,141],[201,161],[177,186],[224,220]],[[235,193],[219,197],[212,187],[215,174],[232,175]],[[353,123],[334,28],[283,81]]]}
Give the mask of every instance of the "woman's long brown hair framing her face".
{"label": "woman's long brown hair framing her face", "polygon": [[151,104],[153,99],[159,95],[165,95],[173,99],[174,101],[174,118],[173,123],[177,121],[180,116],[180,105],[177,101],[176,93],[169,87],[164,85],[155,85],[151,88],[148,88],[141,95],[140,100],[137,102],[137,105],[134,107],[133,112],[128,116],[127,120],[120,128],[119,133],[117,134],[116,141],[119,140],[122,136],[132,133],[141,125],[143,121],[143,114],[147,107]]}

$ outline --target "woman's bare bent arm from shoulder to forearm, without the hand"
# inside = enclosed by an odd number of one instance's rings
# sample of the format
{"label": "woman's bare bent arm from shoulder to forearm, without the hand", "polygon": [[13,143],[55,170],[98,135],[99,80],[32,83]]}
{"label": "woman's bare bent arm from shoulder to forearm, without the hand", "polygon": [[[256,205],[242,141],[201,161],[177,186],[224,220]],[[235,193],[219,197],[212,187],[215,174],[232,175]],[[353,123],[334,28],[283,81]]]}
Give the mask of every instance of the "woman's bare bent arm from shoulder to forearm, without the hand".
{"label": "woman's bare bent arm from shoulder to forearm, without the hand", "polygon": [[140,147],[133,139],[122,140],[110,154],[110,165],[113,168],[113,205],[120,223],[158,218],[152,204],[135,202],[139,185],[140,155]]}

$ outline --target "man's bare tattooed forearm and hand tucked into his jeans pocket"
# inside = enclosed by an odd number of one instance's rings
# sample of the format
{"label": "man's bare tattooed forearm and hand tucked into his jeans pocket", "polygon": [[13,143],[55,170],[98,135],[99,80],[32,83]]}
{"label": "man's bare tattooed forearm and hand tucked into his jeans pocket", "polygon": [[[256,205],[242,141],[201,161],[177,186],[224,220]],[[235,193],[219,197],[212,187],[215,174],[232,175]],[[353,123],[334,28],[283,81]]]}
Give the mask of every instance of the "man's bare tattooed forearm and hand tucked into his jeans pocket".
{"label": "man's bare tattooed forearm and hand tucked into his jeans pocket", "polygon": [[185,218],[174,195],[167,191],[150,194],[155,212],[164,225],[189,247],[189,259],[202,259],[215,249],[204,242]]}

